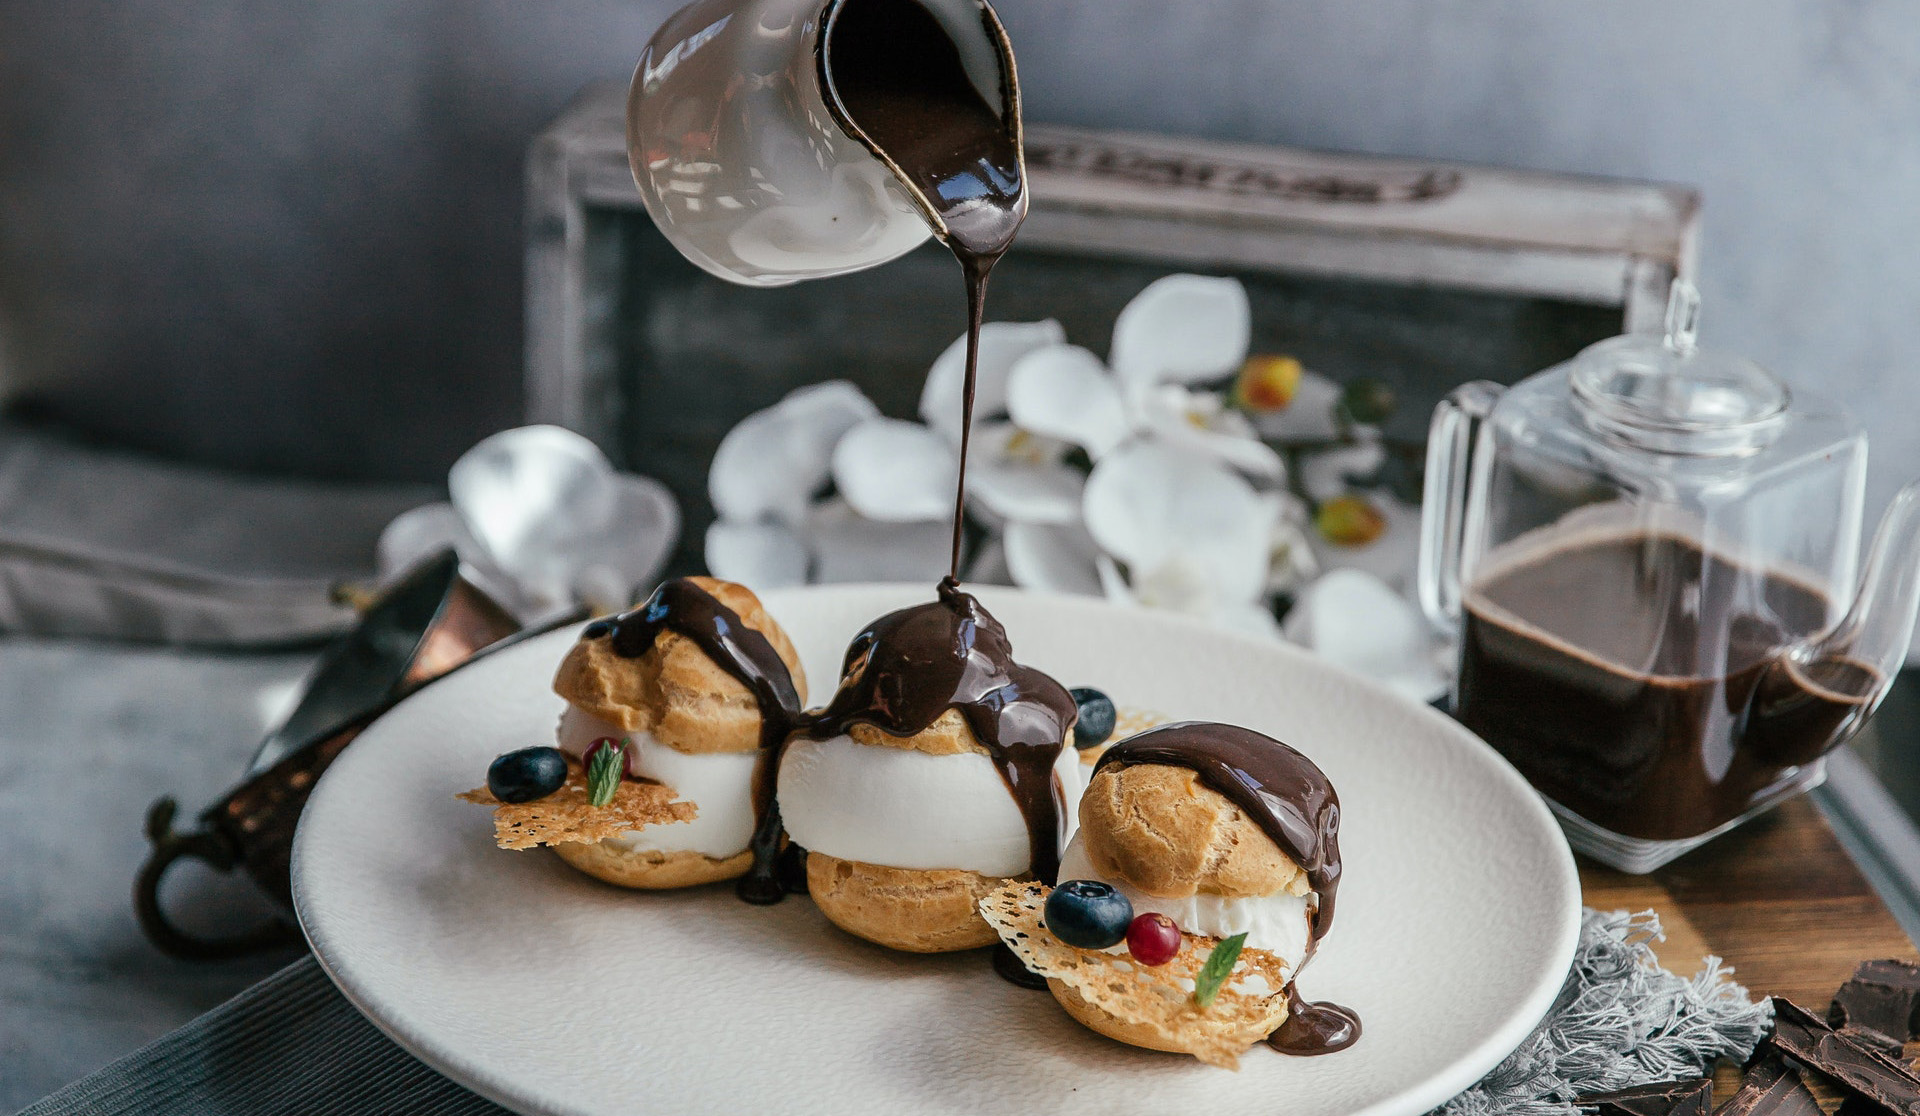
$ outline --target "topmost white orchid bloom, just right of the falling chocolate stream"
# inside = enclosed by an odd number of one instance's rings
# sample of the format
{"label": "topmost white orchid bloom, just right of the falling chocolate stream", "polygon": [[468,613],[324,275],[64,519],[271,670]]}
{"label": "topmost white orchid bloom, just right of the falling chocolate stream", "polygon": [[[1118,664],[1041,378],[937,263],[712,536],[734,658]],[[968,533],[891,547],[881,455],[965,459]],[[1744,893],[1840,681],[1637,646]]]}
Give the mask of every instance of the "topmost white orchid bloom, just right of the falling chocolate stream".
{"label": "topmost white orchid bloom, just right of the falling chocolate stream", "polygon": [[1217,392],[1190,390],[1240,367],[1250,321],[1238,280],[1167,275],[1119,311],[1112,367],[1077,346],[1037,348],[1014,363],[1006,409],[1021,430],[1071,442],[1094,461],[1150,436],[1279,480],[1281,457],[1246,415]]}

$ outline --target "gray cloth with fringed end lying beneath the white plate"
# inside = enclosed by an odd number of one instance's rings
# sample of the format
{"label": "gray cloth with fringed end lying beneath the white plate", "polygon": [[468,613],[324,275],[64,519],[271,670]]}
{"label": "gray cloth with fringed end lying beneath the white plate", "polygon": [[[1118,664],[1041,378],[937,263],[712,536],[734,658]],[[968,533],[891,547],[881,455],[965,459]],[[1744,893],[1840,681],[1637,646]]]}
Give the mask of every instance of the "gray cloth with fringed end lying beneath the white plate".
{"label": "gray cloth with fringed end lying beneath the white plate", "polygon": [[[1548,1020],[1446,1116],[1559,1116],[1580,1093],[1701,1074],[1745,1058],[1770,1010],[1709,958],[1693,980],[1653,960],[1659,918],[1588,910],[1567,987]],[[67,1085],[21,1116],[227,1116],[242,1112],[505,1116],[376,1031],[313,958]]]}

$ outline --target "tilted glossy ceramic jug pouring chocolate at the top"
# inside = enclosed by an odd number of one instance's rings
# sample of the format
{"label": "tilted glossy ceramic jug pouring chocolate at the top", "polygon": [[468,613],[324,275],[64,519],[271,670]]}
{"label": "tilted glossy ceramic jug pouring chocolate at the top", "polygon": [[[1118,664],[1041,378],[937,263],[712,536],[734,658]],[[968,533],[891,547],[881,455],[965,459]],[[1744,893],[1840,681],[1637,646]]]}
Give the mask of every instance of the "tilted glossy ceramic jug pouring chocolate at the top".
{"label": "tilted glossy ceramic jug pouring chocolate at the top", "polygon": [[[925,10],[1020,146],[1020,83],[983,0]],[[647,44],[628,100],[628,158],[655,225],[687,259],[751,286],[845,275],[947,238],[929,198],[856,127],[837,35],[876,0],[697,0]],[[937,188],[937,186],[935,186]],[[943,219],[943,213],[947,215]]]}

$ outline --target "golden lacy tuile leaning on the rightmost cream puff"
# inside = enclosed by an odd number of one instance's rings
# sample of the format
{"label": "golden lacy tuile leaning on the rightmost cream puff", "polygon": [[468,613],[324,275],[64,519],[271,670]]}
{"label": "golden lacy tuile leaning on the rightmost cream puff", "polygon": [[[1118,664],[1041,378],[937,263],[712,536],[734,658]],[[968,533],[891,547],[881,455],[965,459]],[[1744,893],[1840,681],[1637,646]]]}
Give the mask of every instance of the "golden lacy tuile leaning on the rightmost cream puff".
{"label": "golden lacy tuile leaning on the rightmost cream puff", "polygon": [[[1144,966],[1114,951],[1079,949],[1046,930],[1052,889],[1016,882],[979,901],[979,912],[1000,941],[1075,1018],[1121,1041],[1156,1051],[1187,1053],[1210,1066],[1240,1068],[1240,1053],[1286,1020],[1286,962],[1265,949],[1242,949],[1213,1005],[1194,1005],[1194,974],[1217,939],[1185,934],[1181,953],[1162,966]],[[1077,1003],[1075,1003],[1077,1001]],[[1112,1018],[1100,1028],[1087,1010]]]}

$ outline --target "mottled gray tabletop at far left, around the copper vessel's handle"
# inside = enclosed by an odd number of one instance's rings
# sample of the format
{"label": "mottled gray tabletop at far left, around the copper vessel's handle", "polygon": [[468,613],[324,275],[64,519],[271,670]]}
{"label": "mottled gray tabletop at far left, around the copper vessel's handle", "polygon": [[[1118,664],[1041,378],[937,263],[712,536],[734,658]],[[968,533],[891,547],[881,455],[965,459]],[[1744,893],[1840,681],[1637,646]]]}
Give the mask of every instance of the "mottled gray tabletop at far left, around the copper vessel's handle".
{"label": "mottled gray tabletop at far left, around the copper vessel's handle", "polygon": [[[0,1112],[146,1045],[298,953],[171,960],[134,924],[148,803],[194,814],[292,701],[307,653],[0,638]],[[240,886],[175,872],[169,909],[232,920]]]}

